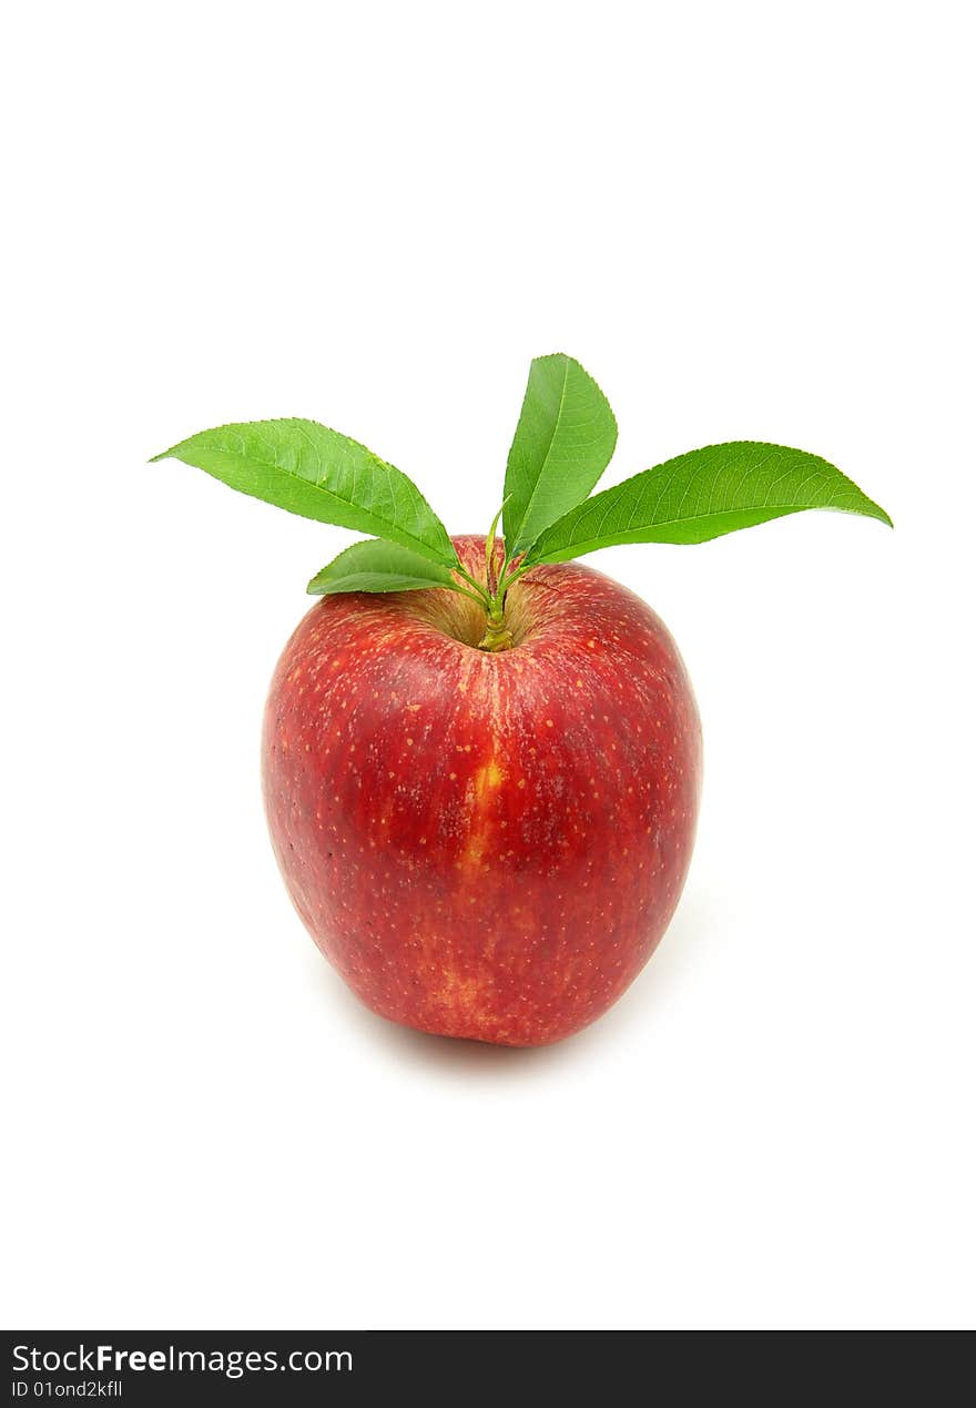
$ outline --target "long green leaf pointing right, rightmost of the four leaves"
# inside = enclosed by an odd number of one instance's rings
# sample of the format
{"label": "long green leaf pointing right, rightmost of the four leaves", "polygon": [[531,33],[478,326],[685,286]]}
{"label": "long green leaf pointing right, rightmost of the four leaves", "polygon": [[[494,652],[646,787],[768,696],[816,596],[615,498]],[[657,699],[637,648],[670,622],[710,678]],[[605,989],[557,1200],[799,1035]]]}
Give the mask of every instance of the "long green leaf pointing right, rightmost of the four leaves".
{"label": "long green leaf pointing right, rightmost of the four leaves", "polygon": [[622,542],[707,542],[804,508],[891,520],[818,455],[732,441],[669,459],[604,489],[548,528],[527,562],[566,562]]}

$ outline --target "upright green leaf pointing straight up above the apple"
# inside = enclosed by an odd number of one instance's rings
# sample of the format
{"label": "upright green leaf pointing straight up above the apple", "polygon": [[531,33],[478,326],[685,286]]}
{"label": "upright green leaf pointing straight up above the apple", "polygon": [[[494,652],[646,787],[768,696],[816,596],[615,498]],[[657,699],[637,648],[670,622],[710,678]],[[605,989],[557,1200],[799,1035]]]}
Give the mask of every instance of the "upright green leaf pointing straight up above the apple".
{"label": "upright green leaf pointing straight up above the apple", "polygon": [[610,463],[617,421],[606,396],[579,362],[537,356],[508,451],[504,532],[510,553],[590,493]]}

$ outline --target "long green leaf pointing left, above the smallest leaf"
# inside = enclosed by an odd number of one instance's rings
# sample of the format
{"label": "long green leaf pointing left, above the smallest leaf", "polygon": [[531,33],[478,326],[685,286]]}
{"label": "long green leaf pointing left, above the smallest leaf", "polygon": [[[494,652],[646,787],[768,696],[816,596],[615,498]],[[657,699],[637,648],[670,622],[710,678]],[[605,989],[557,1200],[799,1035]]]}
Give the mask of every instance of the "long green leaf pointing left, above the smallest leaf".
{"label": "long green leaf pointing left, above the smallest leaf", "polygon": [[154,462],[170,456],[303,518],[390,538],[431,562],[458,560],[446,528],[413,480],[317,421],[220,425]]}

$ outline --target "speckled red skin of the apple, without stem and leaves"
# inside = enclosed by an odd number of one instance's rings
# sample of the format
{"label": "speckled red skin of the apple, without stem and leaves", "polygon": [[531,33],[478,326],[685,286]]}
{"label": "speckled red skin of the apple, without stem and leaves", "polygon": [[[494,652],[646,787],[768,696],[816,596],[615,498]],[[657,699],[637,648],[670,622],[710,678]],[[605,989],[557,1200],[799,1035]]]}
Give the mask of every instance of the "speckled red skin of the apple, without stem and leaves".
{"label": "speckled red skin of the apple, without stem and leaves", "polygon": [[[453,542],[484,580],[484,538]],[[542,1046],[668,926],[701,729],[666,628],[601,573],[537,567],[506,615],[515,645],[487,653],[449,590],[323,598],[272,680],[263,791],[294,907],[368,1007]]]}

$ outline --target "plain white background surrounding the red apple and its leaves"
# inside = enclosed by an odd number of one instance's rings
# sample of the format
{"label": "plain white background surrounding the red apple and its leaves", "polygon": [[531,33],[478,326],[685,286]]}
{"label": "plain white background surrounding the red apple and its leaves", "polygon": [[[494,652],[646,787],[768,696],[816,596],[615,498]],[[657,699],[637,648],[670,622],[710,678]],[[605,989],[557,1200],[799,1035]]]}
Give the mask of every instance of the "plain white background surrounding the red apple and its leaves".
{"label": "plain white background surrounding the red apple and its leaves", "polygon": [[[966,4],[21,6],[3,260],[3,1319],[973,1321]],[[594,559],[706,732],[680,911],[562,1046],[361,1008],[258,734],[349,541],[146,458],[310,415],[483,531],[531,356],[607,483],[717,439],[806,514]]]}

